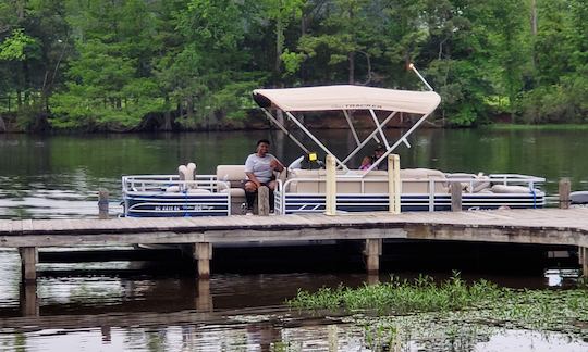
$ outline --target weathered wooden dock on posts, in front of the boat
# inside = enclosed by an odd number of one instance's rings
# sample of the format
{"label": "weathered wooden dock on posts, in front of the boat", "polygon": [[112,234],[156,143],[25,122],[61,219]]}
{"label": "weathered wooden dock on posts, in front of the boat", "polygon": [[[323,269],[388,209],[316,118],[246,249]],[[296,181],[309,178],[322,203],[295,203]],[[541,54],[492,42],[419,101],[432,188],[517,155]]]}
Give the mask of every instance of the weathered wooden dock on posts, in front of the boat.
{"label": "weathered wooden dock on posts, in front of the boat", "polygon": [[194,246],[198,274],[208,277],[220,243],[365,240],[368,273],[379,269],[382,239],[455,240],[579,248],[588,273],[588,209],[414,212],[392,215],[283,215],[179,218],[0,221],[0,247],[19,248],[25,280],[36,279],[38,248],[181,243]]}

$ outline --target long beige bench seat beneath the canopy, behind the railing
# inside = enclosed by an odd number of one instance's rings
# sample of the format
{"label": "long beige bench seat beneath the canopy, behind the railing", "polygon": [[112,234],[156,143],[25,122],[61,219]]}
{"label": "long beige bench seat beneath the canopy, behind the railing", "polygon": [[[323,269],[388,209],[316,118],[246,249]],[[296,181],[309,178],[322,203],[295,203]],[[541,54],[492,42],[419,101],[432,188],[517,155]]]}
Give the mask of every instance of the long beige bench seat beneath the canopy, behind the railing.
{"label": "long beige bench seat beneath the canopy, behind the railing", "polygon": [[[338,175],[350,176],[338,179],[338,193],[388,193],[387,171],[371,171],[364,177],[360,177],[362,172],[358,171],[350,171],[348,173],[338,171]],[[301,178],[301,180],[293,180],[286,191],[293,193],[324,193],[327,189],[326,177],[327,171],[324,169],[294,169],[291,172],[290,178]],[[401,169],[401,179],[403,179],[402,193],[429,193],[429,180],[442,180],[444,178],[445,175],[437,169]],[[443,181],[434,183],[434,192],[448,193],[449,185]]]}

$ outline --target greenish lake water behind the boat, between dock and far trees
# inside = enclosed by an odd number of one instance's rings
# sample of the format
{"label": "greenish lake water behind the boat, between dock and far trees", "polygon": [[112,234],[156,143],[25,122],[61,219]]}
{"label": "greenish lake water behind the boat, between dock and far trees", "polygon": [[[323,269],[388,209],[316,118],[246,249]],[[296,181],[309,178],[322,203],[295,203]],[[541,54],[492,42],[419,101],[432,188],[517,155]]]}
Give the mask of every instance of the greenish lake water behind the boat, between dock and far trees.
{"label": "greenish lake water behind the boat, between dock and far trees", "polygon": [[[393,138],[400,133],[387,130]],[[588,183],[588,160],[575,158],[588,147],[586,134],[585,130],[419,129],[412,137],[413,148],[402,147],[399,153],[403,167],[543,176],[544,189],[554,193],[561,177],[572,179],[573,190],[584,189]],[[0,135],[0,217],[89,216],[96,213],[96,192],[100,188],[110,192],[112,206],[118,204],[122,175],[173,174],[179,164],[193,161],[198,173],[212,174],[219,163],[243,163],[253,152],[255,140],[268,136],[273,152],[285,163],[301,155],[289,138],[266,130]],[[336,154],[348,150],[354,142],[343,130],[319,130],[317,136],[328,140]],[[358,164],[364,153],[371,150],[358,153],[351,164]]]}

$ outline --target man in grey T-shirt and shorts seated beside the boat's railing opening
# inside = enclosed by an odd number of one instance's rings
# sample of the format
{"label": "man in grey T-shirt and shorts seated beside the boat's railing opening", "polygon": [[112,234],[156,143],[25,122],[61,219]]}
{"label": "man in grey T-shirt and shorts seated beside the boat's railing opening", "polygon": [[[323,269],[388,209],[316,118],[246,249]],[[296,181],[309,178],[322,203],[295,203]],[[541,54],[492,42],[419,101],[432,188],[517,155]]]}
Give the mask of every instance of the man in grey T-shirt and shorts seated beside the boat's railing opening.
{"label": "man in grey T-shirt and shorts seated beside the boat's railing opening", "polygon": [[254,154],[247,156],[245,161],[245,198],[247,200],[247,215],[253,214],[253,205],[257,190],[261,186],[267,186],[270,190],[270,211],[273,211],[273,190],[275,189],[275,179],[273,172],[281,172],[284,165],[269,153],[270,142],[261,139],[257,142],[257,150]]}

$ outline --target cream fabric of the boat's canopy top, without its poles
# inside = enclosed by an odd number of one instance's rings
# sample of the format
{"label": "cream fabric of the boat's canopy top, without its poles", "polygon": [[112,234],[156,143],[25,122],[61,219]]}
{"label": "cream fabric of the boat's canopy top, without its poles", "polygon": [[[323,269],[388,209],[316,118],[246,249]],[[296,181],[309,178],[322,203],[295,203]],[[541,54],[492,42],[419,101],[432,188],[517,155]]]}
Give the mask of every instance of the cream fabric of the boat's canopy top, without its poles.
{"label": "cream fabric of the boat's canopy top, without its poles", "polygon": [[322,86],[256,89],[254,100],[261,108],[283,111],[383,110],[428,114],[441,102],[434,91],[412,91],[364,86]]}

